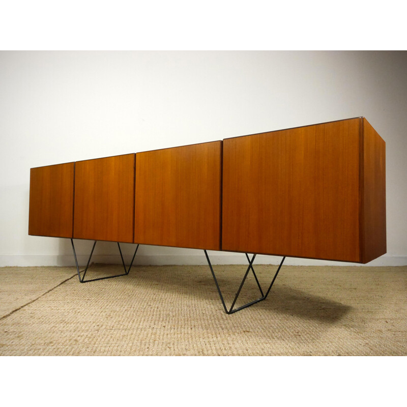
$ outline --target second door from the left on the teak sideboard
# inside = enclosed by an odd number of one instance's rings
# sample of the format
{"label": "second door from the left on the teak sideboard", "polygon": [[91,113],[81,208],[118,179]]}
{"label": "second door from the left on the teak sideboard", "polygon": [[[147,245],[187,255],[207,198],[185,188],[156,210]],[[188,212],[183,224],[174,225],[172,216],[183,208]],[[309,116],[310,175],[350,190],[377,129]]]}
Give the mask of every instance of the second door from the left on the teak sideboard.
{"label": "second door from the left on the teak sideboard", "polygon": [[133,242],[135,154],[75,163],[76,239]]}

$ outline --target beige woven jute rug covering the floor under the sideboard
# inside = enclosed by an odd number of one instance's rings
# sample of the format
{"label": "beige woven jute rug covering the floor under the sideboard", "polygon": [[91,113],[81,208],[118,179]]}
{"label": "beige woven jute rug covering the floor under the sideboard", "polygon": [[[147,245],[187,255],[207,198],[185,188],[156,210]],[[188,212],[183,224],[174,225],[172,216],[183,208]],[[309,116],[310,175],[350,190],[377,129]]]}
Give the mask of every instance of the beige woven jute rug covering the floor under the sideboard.
{"label": "beige woven jute rug covering the floor under the sideboard", "polygon": [[[93,265],[86,278],[121,273]],[[245,266],[214,266],[230,305]],[[255,266],[263,287],[276,266]],[[250,275],[239,305],[259,297]],[[266,301],[223,311],[207,266],[0,268],[0,355],[407,355],[407,267],[283,266]]]}

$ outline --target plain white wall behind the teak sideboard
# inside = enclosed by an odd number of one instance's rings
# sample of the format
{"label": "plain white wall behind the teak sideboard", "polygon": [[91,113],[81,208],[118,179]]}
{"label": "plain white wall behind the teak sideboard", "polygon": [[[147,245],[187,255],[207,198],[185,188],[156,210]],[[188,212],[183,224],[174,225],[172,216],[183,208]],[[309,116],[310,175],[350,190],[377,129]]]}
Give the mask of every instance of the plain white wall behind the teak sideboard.
{"label": "plain white wall behind the teak sideboard", "polygon": [[[388,254],[369,265],[406,265],[406,72],[407,53],[389,51],[0,52],[0,266],[73,264],[69,240],[27,235],[31,167],[359,115],[387,147]],[[117,246],[98,245],[97,261],[117,261]],[[77,241],[82,263],[90,247]],[[198,250],[155,246],[137,257],[206,261]]]}

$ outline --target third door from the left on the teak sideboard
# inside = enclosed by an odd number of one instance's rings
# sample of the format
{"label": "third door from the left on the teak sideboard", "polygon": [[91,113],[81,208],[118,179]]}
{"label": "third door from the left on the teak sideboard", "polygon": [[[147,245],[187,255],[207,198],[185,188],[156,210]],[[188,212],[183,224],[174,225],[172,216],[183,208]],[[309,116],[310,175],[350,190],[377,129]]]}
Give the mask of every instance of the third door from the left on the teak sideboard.
{"label": "third door from the left on the teak sideboard", "polygon": [[136,154],[135,243],[220,250],[221,145]]}

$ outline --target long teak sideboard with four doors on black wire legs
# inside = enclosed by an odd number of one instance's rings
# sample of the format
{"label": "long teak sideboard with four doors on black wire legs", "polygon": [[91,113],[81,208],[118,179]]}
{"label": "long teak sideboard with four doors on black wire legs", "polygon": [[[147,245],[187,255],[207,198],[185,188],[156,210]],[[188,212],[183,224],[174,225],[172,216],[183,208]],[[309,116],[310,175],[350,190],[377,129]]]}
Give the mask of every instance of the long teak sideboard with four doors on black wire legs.
{"label": "long teak sideboard with four doors on black wire legs", "polygon": [[31,168],[28,234],[203,249],[236,312],[206,250],[254,253],[245,278],[256,254],[386,253],[385,150],[358,117]]}

